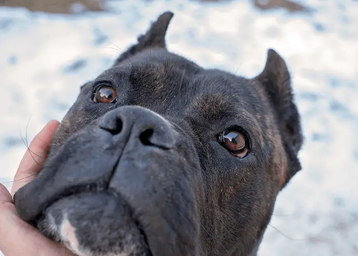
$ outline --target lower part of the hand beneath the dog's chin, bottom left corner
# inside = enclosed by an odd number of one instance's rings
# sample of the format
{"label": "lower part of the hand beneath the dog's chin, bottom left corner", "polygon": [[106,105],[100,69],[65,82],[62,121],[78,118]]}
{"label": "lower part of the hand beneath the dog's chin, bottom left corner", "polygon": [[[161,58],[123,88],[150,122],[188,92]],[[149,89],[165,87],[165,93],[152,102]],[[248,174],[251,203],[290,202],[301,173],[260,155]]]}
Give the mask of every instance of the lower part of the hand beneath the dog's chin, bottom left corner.
{"label": "lower part of the hand beneath the dog's chin, bottom left corner", "polygon": [[68,249],[55,243],[16,215],[12,197],[0,184],[0,251],[4,255],[73,256]]}

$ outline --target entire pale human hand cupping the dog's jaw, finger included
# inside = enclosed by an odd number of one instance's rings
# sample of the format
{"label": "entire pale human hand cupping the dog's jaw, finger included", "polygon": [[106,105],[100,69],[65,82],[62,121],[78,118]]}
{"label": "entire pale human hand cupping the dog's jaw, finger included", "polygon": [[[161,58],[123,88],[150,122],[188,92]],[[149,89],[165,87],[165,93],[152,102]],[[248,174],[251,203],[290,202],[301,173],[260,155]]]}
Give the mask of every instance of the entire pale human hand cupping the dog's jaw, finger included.
{"label": "entire pale human hand cupping the dog's jaw, finger included", "polygon": [[5,256],[74,256],[63,245],[44,237],[33,226],[21,220],[12,199],[21,186],[32,181],[41,171],[58,126],[58,121],[50,121],[32,140],[30,150],[26,151],[15,174],[11,194],[0,183],[0,250]]}

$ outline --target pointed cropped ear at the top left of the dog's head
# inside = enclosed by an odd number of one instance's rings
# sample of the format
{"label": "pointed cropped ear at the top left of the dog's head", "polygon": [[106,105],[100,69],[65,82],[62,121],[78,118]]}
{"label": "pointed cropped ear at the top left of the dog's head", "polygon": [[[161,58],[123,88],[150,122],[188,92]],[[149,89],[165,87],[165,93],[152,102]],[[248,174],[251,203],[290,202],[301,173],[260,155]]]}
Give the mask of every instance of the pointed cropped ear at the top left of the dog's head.
{"label": "pointed cropped ear at the top left of the dog's head", "polygon": [[115,61],[113,66],[118,65],[124,59],[135,55],[138,52],[141,52],[149,48],[166,48],[165,44],[165,34],[167,32],[171,18],[173,17],[172,12],[165,12],[158,17],[158,19],[153,22],[149,30],[144,34],[138,37],[138,42],[136,45],[132,45],[128,50],[123,52]]}

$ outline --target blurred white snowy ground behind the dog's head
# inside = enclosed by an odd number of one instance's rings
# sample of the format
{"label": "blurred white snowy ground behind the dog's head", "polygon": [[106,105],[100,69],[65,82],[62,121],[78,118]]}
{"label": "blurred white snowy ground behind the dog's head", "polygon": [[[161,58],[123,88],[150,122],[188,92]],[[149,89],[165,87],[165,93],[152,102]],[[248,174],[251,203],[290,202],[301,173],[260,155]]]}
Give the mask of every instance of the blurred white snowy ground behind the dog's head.
{"label": "blurred white snowy ground behind the dog's head", "polygon": [[82,82],[110,66],[116,46],[126,48],[171,10],[169,50],[249,77],[274,48],[292,71],[303,170],[279,195],[259,255],[358,255],[358,2],[301,3],[314,11],[188,0],[113,1],[110,12],[76,16],[1,7],[0,182],[12,180],[25,152],[20,134],[30,116],[29,141],[63,117]]}

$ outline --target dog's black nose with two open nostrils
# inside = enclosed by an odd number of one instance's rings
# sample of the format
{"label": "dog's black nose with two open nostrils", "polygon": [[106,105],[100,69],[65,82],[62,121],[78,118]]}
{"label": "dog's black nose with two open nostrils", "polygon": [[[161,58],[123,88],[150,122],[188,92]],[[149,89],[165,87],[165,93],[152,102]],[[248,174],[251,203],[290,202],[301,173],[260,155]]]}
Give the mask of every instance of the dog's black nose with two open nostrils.
{"label": "dog's black nose with two open nostrils", "polygon": [[128,138],[127,143],[137,146],[170,149],[175,145],[176,134],[171,124],[140,106],[121,106],[104,115],[98,125],[118,139]]}

